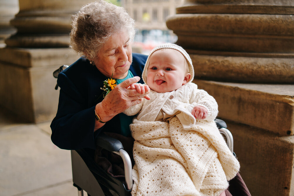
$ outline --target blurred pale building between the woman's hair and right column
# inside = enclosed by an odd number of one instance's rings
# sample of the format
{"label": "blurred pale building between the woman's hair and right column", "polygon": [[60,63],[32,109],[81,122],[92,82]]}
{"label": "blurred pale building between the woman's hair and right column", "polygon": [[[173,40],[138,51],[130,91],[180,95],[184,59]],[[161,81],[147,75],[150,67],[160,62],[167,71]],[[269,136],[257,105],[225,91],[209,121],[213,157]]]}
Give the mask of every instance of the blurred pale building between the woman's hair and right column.
{"label": "blurred pale building between the woman's hair and right column", "polygon": [[134,51],[148,54],[161,43],[174,43],[177,36],[166,27],[169,15],[176,14],[181,0],[123,0],[123,6],[136,21]]}

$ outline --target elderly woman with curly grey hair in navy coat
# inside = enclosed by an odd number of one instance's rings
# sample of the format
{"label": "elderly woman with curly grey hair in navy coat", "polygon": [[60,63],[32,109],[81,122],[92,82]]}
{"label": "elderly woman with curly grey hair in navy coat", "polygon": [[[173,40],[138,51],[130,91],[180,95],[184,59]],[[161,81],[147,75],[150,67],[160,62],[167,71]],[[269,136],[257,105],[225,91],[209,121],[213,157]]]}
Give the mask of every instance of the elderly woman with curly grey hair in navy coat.
{"label": "elderly woman with curly grey hair in navy coat", "polygon": [[[83,56],[58,76],[61,89],[51,140],[59,148],[95,149],[101,131],[130,135],[132,117],[121,112],[148,99],[150,90],[128,88],[143,83],[136,76],[142,75],[147,59],[132,54],[134,34],[128,13],[105,1],[87,4],[72,17],[71,48]],[[118,85],[103,99],[101,88],[108,78],[117,79]]]}

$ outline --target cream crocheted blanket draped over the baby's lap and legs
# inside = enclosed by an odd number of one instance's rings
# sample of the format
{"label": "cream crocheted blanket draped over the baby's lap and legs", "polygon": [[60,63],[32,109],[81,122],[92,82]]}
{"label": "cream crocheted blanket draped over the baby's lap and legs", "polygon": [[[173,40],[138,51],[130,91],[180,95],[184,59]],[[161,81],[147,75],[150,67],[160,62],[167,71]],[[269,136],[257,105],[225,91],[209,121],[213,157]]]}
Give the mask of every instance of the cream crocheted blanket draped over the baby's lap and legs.
{"label": "cream crocheted blanket draped over the baby's lap and legs", "polygon": [[135,139],[132,195],[216,195],[240,165],[214,122],[197,120],[184,129],[169,123],[133,120]]}

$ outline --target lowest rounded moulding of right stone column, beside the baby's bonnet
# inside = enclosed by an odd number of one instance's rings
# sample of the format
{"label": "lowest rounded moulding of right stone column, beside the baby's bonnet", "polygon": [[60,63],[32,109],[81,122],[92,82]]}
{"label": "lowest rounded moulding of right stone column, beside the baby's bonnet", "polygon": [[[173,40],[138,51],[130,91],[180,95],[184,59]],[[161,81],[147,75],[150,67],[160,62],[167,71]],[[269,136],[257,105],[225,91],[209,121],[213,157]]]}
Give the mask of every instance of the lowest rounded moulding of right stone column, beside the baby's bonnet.
{"label": "lowest rounded moulding of right stone column, beside the baby's bonnet", "polygon": [[213,52],[187,51],[194,69],[197,70],[195,71],[197,78],[230,82],[294,83],[294,53],[276,53],[279,56],[275,56],[274,53],[267,56],[251,53],[251,56],[240,56],[241,53],[214,52],[215,54],[212,54]]}

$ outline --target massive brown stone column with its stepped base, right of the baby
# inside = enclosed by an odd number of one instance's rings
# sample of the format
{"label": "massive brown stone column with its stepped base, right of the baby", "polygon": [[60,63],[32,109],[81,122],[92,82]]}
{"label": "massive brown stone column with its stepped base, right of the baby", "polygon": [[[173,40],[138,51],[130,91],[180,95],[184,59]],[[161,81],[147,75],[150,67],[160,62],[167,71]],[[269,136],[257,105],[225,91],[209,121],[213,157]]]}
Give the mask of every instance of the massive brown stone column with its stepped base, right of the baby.
{"label": "massive brown stone column with its stepped base, right of the baby", "polygon": [[293,195],[294,2],[186,0],[167,26],[214,96],[252,195]]}

